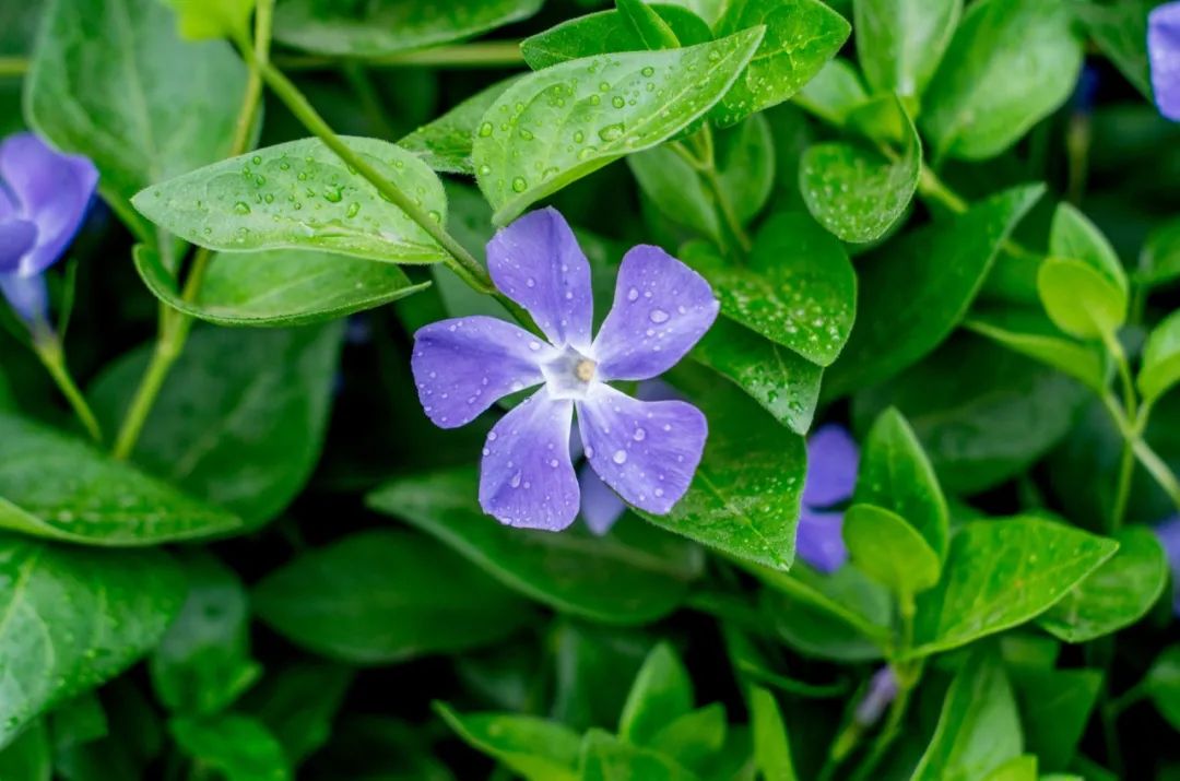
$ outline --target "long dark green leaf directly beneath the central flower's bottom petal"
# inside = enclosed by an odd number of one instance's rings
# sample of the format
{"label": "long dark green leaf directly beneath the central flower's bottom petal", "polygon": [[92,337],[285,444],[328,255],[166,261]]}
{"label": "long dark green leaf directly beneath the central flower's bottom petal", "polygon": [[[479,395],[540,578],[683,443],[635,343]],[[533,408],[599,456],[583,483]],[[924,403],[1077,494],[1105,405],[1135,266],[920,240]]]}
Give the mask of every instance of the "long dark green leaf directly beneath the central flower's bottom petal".
{"label": "long dark green leaf directly beneath the central flower's bottom petal", "polygon": [[700,575],[701,552],[624,520],[607,537],[503,526],[477,503],[474,470],[402,478],[366,501],[437,537],[507,588],[595,621],[636,624],[671,612]]}

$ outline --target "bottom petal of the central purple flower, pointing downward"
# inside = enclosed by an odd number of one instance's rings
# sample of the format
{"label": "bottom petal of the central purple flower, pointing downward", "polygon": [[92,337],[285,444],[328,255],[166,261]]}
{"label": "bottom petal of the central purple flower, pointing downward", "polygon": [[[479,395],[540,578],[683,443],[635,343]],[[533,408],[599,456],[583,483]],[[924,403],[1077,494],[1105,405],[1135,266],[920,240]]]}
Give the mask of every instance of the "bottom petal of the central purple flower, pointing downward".
{"label": "bottom petal of the central purple flower, pointing downward", "polygon": [[578,514],[578,479],[570,461],[573,402],[542,388],[487,434],[479,505],[509,526],[560,531]]}

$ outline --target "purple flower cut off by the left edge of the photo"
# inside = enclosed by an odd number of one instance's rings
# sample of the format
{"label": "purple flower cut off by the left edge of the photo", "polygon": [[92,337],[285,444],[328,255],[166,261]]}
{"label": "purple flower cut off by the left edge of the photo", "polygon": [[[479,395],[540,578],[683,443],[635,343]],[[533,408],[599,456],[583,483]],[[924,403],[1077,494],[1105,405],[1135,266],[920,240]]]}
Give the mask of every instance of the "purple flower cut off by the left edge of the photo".
{"label": "purple flower cut off by the left edge of the photo", "polygon": [[0,293],[30,323],[48,317],[45,269],[73,241],[97,185],[93,163],[32,133],[0,144]]}

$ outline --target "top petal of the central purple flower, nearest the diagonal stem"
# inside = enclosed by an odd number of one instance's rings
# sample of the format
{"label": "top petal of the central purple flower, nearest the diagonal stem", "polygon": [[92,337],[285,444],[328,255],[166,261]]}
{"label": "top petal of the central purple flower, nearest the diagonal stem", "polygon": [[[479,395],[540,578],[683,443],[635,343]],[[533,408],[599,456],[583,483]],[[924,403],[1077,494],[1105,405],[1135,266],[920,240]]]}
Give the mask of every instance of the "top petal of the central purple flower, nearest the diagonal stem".
{"label": "top petal of the central purple flower, nearest the diagonal stem", "polygon": [[504,295],[529,310],[553,344],[590,347],[590,262],[556,209],[531,211],[487,243],[487,270]]}

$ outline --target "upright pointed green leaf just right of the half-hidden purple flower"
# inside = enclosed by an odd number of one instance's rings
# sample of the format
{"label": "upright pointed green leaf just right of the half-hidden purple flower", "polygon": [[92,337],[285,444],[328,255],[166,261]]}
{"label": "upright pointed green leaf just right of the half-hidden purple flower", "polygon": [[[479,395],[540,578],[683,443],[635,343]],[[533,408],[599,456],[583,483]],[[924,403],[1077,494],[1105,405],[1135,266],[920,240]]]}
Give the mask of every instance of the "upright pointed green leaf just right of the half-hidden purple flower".
{"label": "upright pointed green leaf just right of the half-hidden purple flower", "polygon": [[913,429],[892,407],[877,418],[865,439],[856,501],[892,511],[913,526],[936,559],[946,554],[946,499]]}

